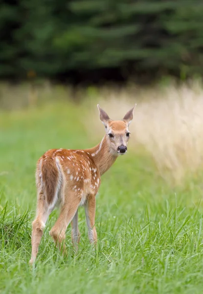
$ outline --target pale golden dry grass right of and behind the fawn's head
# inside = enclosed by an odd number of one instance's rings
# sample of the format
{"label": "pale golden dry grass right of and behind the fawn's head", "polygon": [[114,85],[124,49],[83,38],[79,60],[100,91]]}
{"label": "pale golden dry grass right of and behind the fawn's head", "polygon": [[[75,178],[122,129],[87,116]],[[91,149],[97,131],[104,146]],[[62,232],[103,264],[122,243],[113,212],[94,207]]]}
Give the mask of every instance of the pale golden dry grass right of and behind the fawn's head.
{"label": "pale golden dry grass right of and behind the fawn's head", "polygon": [[[96,102],[112,119],[121,119],[135,103],[131,124],[134,150],[140,146],[153,157],[158,172],[179,184],[203,165],[203,88],[198,82],[150,89],[101,90],[91,101],[86,121],[91,136],[103,128]],[[92,124],[92,120],[94,123]],[[91,126],[91,127],[90,127]],[[99,131],[100,133],[100,131]]]}

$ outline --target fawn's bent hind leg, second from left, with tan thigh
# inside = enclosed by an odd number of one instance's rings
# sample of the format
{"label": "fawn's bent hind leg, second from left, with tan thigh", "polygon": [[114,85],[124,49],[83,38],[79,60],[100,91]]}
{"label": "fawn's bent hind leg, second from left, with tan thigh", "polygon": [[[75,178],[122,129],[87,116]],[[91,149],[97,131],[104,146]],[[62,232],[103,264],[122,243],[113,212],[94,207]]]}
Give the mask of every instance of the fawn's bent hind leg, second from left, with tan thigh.
{"label": "fawn's bent hind leg, second from left, with tan thigh", "polygon": [[64,204],[62,204],[58,220],[49,232],[59,250],[62,250],[64,254],[66,250],[66,229],[68,224],[74,218],[80,204],[80,197],[77,193],[71,192],[68,195],[65,193],[65,197],[66,200],[64,201]]}

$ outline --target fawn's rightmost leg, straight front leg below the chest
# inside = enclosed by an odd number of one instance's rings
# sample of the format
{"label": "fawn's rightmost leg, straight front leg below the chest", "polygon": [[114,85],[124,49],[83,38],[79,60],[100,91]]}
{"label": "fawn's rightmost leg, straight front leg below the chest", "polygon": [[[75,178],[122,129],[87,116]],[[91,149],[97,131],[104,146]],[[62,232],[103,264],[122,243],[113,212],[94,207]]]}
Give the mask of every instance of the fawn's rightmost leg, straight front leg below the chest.
{"label": "fawn's rightmost leg, straight front leg below the chest", "polygon": [[95,210],[96,210],[96,199],[95,195],[89,195],[87,202],[85,203],[85,214],[88,226],[88,236],[90,243],[96,244],[97,234],[95,228]]}

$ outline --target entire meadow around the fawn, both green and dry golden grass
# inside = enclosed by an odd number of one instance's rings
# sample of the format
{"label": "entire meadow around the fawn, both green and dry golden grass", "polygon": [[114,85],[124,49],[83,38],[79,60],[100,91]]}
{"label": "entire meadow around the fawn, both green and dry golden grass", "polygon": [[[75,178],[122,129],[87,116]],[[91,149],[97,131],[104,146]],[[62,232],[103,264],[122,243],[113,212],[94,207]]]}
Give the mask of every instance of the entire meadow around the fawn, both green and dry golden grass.
{"label": "entire meadow around the fawn, both green and dry golden grass", "polygon": [[[26,99],[26,92],[18,91],[16,100]],[[201,86],[119,93],[89,89],[82,102],[65,99],[68,92],[57,87],[43,93],[37,105],[0,112],[0,293],[202,293]],[[96,251],[80,207],[79,250],[73,251],[68,227],[63,258],[48,234],[55,210],[36,267],[30,268],[36,161],[50,148],[96,145],[104,135],[97,103],[121,119],[135,102],[129,150],[102,176]]]}

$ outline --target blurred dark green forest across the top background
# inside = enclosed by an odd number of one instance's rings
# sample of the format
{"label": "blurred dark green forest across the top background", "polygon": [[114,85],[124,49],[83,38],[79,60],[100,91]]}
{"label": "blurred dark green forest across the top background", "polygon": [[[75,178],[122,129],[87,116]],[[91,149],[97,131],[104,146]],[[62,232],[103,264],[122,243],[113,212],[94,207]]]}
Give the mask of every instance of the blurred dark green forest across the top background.
{"label": "blurred dark green forest across the top background", "polygon": [[202,0],[0,1],[1,79],[202,74]]}

